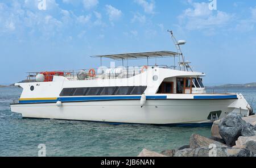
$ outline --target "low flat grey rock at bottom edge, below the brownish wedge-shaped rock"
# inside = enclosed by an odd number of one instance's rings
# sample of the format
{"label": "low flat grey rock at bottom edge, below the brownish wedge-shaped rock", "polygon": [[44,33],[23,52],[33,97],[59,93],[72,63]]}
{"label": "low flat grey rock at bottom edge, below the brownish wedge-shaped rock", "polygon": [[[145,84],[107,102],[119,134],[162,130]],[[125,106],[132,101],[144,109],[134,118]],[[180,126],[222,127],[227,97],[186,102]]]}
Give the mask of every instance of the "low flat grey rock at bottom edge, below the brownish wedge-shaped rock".
{"label": "low flat grey rock at bottom edge, below the brownish wedge-shaped rock", "polygon": [[208,148],[178,150],[174,157],[209,157]]}

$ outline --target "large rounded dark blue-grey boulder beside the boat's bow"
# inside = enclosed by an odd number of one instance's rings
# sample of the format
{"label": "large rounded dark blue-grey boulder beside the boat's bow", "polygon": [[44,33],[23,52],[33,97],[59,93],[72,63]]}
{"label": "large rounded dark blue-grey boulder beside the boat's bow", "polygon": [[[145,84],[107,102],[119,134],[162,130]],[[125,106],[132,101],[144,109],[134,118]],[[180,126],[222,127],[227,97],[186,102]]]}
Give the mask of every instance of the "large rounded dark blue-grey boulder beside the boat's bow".
{"label": "large rounded dark blue-grey boulder beside the boat's bow", "polygon": [[245,124],[246,122],[242,120],[242,117],[234,113],[230,113],[221,119],[218,127],[220,135],[227,145],[234,146],[236,144],[236,140],[241,136]]}

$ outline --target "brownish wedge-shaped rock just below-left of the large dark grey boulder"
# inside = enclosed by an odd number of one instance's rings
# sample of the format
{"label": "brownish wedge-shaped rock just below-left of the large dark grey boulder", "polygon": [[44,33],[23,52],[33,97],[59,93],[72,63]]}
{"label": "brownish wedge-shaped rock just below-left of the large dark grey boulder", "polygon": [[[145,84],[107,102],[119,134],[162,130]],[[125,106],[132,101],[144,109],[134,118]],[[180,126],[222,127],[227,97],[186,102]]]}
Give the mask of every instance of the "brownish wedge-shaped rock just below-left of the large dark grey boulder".
{"label": "brownish wedge-shaped rock just below-left of the large dark grey boulder", "polygon": [[218,147],[227,147],[225,144],[222,144],[218,141],[211,140],[207,137],[200,135],[192,134],[189,140],[189,146],[191,149],[196,148],[209,148],[210,144],[215,144]]}

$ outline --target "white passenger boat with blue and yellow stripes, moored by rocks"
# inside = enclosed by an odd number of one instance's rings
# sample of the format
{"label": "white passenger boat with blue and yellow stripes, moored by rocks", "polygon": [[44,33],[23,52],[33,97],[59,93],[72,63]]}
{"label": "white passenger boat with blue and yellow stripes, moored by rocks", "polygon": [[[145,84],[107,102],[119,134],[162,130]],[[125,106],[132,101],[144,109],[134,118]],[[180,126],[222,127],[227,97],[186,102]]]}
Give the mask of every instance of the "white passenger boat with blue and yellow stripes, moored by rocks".
{"label": "white passenger boat with blue and yellow stripes, moored by rocks", "polygon": [[[171,32],[172,35],[172,32]],[[204,73],[194,72],[178,52],[93,56],[113,60],[174,58],[174,66],[146,65],[29,73],[11,111],[23,117],[159,125],[207,125],[236,112],[253,110],[242,94],[206,93]],[[175,59],[180,60],[175,66]],[[170,61],[170,60],[168,60]],[[147,61],[148,62],[148,61]],[[147,63],[148,64],[148,63]],[[34,78],[33,78],[34,77]]]}

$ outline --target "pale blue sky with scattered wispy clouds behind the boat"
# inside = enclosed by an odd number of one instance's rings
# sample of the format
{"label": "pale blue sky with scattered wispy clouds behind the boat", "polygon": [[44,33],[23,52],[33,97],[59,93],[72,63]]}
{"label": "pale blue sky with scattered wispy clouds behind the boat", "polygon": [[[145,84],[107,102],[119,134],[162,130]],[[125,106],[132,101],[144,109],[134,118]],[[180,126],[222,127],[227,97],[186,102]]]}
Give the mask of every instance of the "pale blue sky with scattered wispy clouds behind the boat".
{"label": "pale blue sky with scattered wispy clouds behind the boat", "polygon": [[99,54],[176,51],[167,30],[187,41],[185,61],[206,85],[256,82],[256,1],[0,0],[0,85],[26,72],[97,68],[89,56]]}

